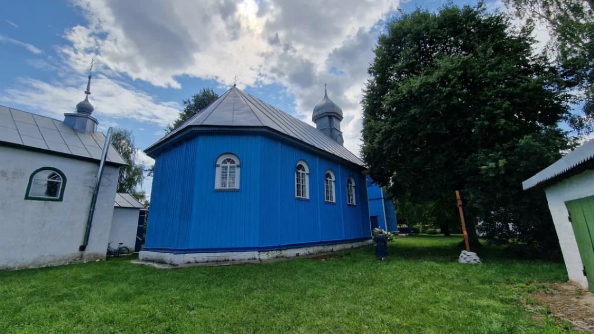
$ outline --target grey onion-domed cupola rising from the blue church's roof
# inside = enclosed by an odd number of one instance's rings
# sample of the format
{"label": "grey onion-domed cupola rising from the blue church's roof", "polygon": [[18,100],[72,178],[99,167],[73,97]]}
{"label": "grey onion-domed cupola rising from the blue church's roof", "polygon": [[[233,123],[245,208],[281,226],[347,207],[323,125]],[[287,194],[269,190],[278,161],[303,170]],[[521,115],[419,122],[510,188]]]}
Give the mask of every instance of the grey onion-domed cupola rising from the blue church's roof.
{"label": "grey onion-domed cupola rising from the blue church's roof", "polygon": [[340,131],[342,118],[342,109],[328,98],[328,92],[324,87],[324,99],[315,105],[314,114],[311,116],[315,127],[342,145],[345,142],[342,138],[342,131]]}

